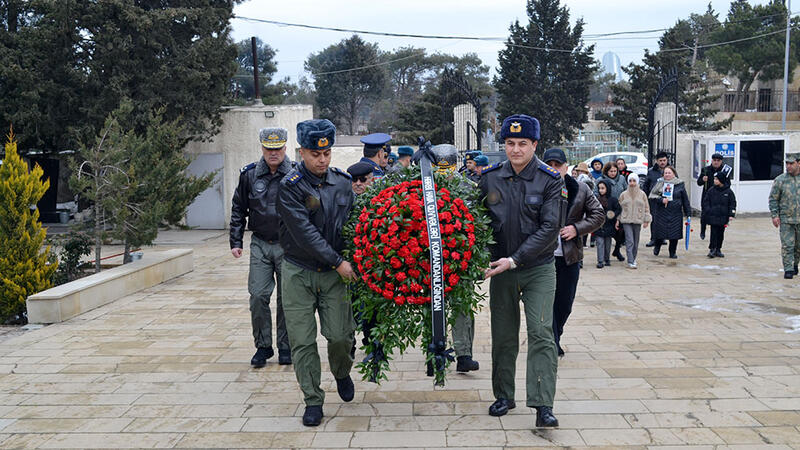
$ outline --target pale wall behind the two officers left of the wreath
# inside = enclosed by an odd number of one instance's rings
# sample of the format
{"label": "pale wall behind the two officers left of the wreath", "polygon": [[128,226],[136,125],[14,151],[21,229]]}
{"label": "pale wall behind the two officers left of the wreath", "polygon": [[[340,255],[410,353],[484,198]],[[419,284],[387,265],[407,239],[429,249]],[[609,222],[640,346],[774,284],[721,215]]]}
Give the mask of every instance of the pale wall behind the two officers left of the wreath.
{"label": "pale wall behind the two officers left of the wreath", "polygon": [[[266,117],[272,112],[273,117]],[[258,130],[264,127],[283,127],[289,130],[286,153],[293,157],[297,147],[298,122],[313,118],[311,105],[261,105],[227,107],[223,113],[219,133],[209,142],[190,142],[184,151],[189,155],[222,153],[225,165],[222,170],[225,201],[225,224],[230,224],[233,191],[239,183],[242,167],[261,158]]]}

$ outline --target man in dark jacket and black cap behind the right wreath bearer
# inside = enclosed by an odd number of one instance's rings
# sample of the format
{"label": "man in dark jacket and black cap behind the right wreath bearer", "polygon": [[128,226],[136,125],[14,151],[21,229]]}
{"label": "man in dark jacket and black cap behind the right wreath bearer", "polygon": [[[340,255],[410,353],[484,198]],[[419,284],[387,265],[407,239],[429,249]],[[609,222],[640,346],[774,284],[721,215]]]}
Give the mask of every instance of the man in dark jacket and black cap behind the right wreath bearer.
{"label": "man in dark jacket and black cap behind the right wreath bearer", "polygon": [[553,337],[556,340],[558,355],[564,355],[561,348],[561,334],[567,323],[575,301],[575,290],[580,277],[580,262],[583,261],[583,236],[603,225],[606,215],[603,206],[592,194],[586,183],[579,183],[567,175],[567,156],[559,148],[544,152],[542,160],[556,169],[564,179],[567,188],[567,221],[558,236],[556,257],[556,294],[553,300]]}

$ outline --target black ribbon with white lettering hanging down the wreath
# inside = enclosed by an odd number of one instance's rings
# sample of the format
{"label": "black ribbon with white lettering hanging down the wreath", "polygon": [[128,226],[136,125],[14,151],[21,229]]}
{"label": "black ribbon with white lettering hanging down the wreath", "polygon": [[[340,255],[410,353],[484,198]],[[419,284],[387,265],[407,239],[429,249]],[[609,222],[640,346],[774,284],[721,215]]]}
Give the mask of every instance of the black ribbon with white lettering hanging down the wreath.
{"label": "black ribbon with white lettering hanging down the wreath", "polygon": [[[453,349],[447,348],[447,314],[445,313],[447,304],[444,298],[442,236],[439,227],[439,208],[436,204],[436,184],[431,167],[434,158],[431,152],[431,143],[420,142],[419,163],[431,262],[431,330],[433,337],[428,345],[428,354],[432,355],[433,359],[430,361],[432,364],[428,366],[429,375],[433,375],[432,371],[443,374],[447,367],[447,361],[454,360]],[[437,385],[444,385],[444,376],[437,376],[436,379]]]}

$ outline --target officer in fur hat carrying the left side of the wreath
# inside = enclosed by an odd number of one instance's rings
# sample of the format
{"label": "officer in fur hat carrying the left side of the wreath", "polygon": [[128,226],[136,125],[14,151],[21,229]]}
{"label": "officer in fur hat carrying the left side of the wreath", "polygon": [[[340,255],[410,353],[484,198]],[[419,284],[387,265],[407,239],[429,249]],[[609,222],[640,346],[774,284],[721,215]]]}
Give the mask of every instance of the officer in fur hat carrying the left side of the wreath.
{"label": "officer in fur hat carrying the left side of the wreath", "polygon": [[353,207],[350,176],[330,168],[336,127],[328,120],[297,124],[302,162],[281,181],[278,213],[284,312],[294,372],[306,404],[303,425],[322,421],[325,392],[320,388],[317,321],[328,341],[328,363],[342,400],[353,399],[350,356],[355,321],[347,286],[355,273],[341,252],[342,227]]}

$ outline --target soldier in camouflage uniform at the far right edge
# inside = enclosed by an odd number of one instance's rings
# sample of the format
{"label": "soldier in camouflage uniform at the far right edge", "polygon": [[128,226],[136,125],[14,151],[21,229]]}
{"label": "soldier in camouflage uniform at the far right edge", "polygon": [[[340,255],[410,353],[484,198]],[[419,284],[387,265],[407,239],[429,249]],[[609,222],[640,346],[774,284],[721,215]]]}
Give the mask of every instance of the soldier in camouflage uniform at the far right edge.
{"label": "soldier in camouflage uniform at the far right edge", "polygon": [[783,277],[791,279],[800,262],[800,153],[787,153],[785,160],[786,172],[772,183],[769,212],[780,228]]}

